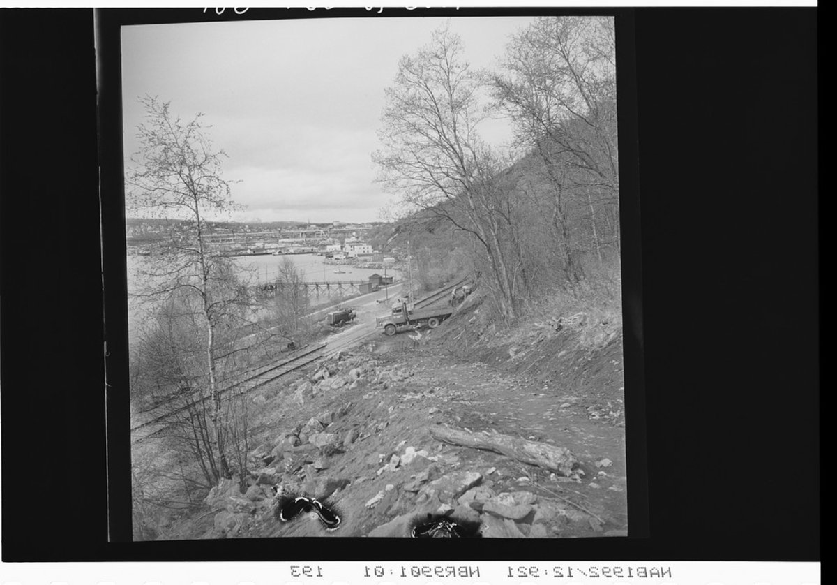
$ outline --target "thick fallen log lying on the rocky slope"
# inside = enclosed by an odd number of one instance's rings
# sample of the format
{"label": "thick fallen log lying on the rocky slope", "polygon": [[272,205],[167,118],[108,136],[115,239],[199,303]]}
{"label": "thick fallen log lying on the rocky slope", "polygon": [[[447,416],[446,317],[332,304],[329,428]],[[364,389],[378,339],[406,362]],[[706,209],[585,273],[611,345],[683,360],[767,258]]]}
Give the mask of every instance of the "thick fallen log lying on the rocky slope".
{"label": "thick fallen log lying on the rocky slope", "polygon": [[573,465],[578,462],[567,448],[526,441],[526,439],[502,435],[499,432],[460,431],[450,427],[429,427],[428,430],[430,436],[437,441],[493,451],[567,477],[572,474]]}

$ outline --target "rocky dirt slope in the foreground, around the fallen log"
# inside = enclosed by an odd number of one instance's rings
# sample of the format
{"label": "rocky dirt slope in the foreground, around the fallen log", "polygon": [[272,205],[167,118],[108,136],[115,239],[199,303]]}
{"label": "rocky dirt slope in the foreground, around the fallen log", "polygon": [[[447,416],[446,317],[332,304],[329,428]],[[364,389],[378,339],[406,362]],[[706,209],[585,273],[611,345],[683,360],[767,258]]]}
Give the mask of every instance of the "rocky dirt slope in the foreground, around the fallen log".
{"label": "rocky dirt slope in the foreground, around the fallen log", "polygon": [[[479,297],[419,339],[374,335],[259,389],[258,471],[222,480],[160,536],[406,536],[410,520],[437,512],[479,523],[485,537],[624,536],[619,324],[577,313],[495,337],[480,325]],[[439,440],[457,430],[566,458],[548,469]],[[340,527],[280,522],[275,485],[327,498]]]}

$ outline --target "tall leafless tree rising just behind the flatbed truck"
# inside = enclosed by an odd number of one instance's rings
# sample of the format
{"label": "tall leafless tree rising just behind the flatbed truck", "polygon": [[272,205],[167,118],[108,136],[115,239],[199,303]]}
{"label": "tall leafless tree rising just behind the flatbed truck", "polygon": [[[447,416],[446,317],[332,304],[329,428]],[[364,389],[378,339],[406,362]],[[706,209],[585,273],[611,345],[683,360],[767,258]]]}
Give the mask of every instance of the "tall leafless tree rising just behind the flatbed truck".
{"label": "tall leafless tree rising just behind the flatbed truck", "polygon": [[507,246],[513,227],[501,211],[511,193],[497,182],[503,165],[480,139],[485,118],[482,82],[447,25],[432,42],[398,63],[386,90],[383,149],[373,155],[379,180],[403,199],[404,213],[428,210],[479,242],[490,267],[503,318],[516,316],[514,258]]}

